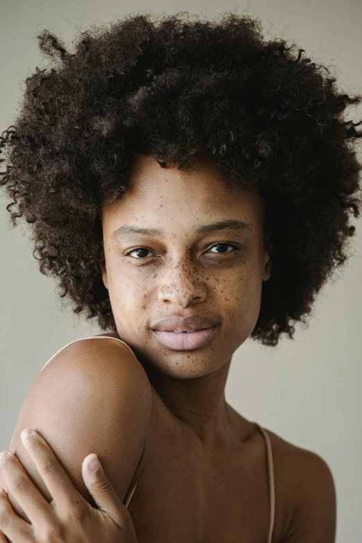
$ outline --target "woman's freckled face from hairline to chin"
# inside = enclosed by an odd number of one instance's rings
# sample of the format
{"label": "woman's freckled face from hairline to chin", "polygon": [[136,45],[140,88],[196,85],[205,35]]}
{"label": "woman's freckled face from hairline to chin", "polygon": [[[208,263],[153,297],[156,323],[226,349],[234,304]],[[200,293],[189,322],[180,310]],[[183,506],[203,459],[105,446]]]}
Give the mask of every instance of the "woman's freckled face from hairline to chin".
{"label": "woman's freckled face from hairline to chin", "polygon": [[[227,186],[214,162],[179,171],[139,155],[128,191],[102,212],[103,283],[123,341],[178,379],[202,377],[230,361],[255,327],[262,282],[270,278],[263,219],[257,191]],[[198,230],[221,221],[248,228]],[[130,232],[126,225],[160,232]],[[152,329],[169,316],[209,317],[219,325],[196,348],[189,348],[188,334],[178,334],[175,341],[186,346],[180,350]]]}

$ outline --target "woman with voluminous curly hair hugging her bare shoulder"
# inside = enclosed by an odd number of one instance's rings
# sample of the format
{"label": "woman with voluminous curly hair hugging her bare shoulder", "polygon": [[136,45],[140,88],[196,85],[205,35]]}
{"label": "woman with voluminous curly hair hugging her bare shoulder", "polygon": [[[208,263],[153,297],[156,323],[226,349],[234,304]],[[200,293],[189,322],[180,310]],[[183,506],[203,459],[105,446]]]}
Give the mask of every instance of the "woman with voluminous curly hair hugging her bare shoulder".
{"label": "woman with voluminous curly hair hugging her bare shoulder", "polygon": [[[59,63],[26,80],[3,132],[13,222],[108,332],[63,347],[28,391],[0,528],[14,542],[334,542],[325,460],[237,413],[225,383],[249,337],[293,338],[347,259],[361,134],[342,114],[362,97],[257,19],[152,18],[95,27],[74,53],[42,32]],[[51,449],[29,458],[25,428]]]}

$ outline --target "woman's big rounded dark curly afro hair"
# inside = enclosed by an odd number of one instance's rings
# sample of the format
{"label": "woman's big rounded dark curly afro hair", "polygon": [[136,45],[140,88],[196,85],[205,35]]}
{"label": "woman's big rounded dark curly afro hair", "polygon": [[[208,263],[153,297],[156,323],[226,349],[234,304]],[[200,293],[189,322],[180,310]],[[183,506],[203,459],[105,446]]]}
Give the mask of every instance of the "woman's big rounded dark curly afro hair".
{"label": "woman's big rounded dark curly afro hair", "polygon": [[99,263],[104,203],[126,192],[139,153],[180,169],[212,158],[227,182],[265,198],[272,269],[251,337],[274,346],[283,332],[293,338],[292,322],[307,324],[349,256],[362,121],[343,112],[362,96],[337,89],[295,43],[266,40],[259,17],[192,17],[138,12],[92,25],[73,53],[49,31],[37,35],[53,64],[26,78],[17,119],[1,134],[6,209],[13,226],[32,223],[33,255],[58,277],[60,298],[116,331]]}

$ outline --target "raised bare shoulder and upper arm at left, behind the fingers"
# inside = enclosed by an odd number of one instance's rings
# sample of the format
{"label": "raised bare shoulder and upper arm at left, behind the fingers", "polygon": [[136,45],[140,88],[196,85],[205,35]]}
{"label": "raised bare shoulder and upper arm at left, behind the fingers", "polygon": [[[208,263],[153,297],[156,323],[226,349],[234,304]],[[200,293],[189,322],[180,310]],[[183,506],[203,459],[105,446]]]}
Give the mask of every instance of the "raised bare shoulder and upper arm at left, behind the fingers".
{"label": "raised bare shoulder and upper arm at left, behind the fingers", "polygon": [[[9,450],[50,502],[53,497],[20,438],[25,428],[39,431],[92,504],[82,463],[96,453],[123,501],[146,444],[150,404],[146,372],[121,343],[79,341],[64,347],[37,375],[21,405]],[[9,500],[17,515],[27,519],[10,493]]]}

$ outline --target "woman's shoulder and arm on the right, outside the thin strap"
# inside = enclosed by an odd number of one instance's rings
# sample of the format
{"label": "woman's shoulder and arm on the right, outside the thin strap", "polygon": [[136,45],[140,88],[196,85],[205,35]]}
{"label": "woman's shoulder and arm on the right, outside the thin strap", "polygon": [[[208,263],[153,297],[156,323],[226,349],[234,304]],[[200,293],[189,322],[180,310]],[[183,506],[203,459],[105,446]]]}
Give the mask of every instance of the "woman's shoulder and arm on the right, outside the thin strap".
{"label": "woman's shoulder and arm on the right, outside the thin strap", "polygon": [[282,542],[334,543],[336,488],[328,463],[319,454],[266,432],[273,451],[276,502],[282,508]]}

